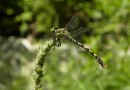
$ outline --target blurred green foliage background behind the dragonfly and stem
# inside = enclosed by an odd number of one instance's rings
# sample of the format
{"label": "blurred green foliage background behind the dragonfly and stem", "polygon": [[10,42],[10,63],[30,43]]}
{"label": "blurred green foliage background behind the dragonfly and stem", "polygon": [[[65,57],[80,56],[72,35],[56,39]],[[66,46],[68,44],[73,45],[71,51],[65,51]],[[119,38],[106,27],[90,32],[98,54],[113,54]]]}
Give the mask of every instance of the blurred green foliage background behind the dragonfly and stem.
{"label": "blurred green foliage background behind the dragonfly and stem", "polygon": [[[46,57],[44,90],[130,90],[130,0],[1,0],[0,90],[32,90],[39,45],[73,15],[88,31],[76,38],[107,64],[62,40]],[[80,32],[80,31],[79,31]]]}

